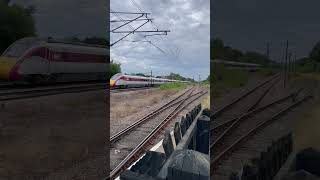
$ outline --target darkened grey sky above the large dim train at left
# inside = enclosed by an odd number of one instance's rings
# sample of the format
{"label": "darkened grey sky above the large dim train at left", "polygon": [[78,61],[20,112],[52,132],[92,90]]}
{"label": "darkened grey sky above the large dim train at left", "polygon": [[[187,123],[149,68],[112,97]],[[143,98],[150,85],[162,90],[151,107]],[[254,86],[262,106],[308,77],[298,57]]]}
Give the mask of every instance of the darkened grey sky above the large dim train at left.
{"label": "darkened grey sky above the large dim train at left", "polygon": [[38,36],[106,36],[106,0],[11,0],[11,3],[36,8]]}

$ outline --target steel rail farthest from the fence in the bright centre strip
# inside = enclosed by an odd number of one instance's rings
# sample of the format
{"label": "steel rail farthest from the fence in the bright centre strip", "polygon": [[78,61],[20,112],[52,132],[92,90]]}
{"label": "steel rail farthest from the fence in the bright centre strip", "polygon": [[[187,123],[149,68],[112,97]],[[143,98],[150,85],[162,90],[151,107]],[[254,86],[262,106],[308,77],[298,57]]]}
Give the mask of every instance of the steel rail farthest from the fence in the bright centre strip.
{"label": "steel rail farthest from the fence in the bright centre strip", "polygon": [[[192,91],[191,91],[192,90]],[[188,89],[187,91],[185,91],[184,93],[182,93],[181,95],[179,95],[178,97],[170,100],[169,102],[167,102],[166,104],[162,105],[161,107],[159,107],[158,109],[152,111],[151,113],[143,116],[142,118],[140,118],[139,120],[135,121],[134,123],[132,123],[131,125],[127,126],[126,128],[124,128],[123,130],[119,131],[118,133],[116,133],[115,135],[113,135],[110,138],[110,142],[111,144],[113,144],[115,141],[117,141],[121,136],[123,136],[124,134],[130,132],[132,129],[134,129],[135,127],[141,125],[143,122],[149,120],[150,118],[158,115],[159,113],[163,112],[164,110],[166,110],[167,108],[170,108],[178,103],[180,103],[181,101],[183,101],[184,99],[177,101],[175,103],[172,103],[174,101],[176,101],[177,99],[181,98],[182,96],[184,96],[185,94],[187,94],[188,92],[191,91],[191,93],[193,92],[193,88]],[[186,97],[188,98],[188,97]]]}

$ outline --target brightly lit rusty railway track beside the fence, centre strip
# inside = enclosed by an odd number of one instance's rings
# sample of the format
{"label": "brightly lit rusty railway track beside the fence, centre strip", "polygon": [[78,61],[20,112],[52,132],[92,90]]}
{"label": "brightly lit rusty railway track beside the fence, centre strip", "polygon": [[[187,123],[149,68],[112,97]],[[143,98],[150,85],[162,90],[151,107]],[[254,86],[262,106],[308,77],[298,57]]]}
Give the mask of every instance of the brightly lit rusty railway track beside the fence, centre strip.
{"label": "brightly lit rusty railway track beside the fence, centre strip", "polygon": [[[192,102],[205,95],[206,91],[189,89],[157,110],[139,119],[110,138],[111,173],[116,178],[123,170],[141,157],[155,143],[164,129]],[[148,123],[147,123],[148,122]],[[120,150],[119,150],[120,149]]]}

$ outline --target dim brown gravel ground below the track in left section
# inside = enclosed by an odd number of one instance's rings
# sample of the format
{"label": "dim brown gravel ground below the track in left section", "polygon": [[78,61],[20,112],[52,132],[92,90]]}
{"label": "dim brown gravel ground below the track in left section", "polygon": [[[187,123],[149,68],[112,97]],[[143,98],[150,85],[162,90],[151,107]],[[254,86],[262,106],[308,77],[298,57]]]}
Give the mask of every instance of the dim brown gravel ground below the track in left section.
{"label": "dim brown gravel ground below the track in left section", "polygon": [[2,102],[0,177],[43,179],[105,154],[105,97],[99,90]]}

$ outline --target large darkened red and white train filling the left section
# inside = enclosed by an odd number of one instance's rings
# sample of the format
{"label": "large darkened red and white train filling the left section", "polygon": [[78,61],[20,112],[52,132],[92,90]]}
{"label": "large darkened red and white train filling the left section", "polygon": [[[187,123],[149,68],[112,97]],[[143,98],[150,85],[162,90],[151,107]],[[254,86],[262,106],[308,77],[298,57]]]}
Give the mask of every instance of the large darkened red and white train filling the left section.
{"label": "large darkened red and white train filling the left section", "polygon": [[107,80],[104,46],[28,37],[9,46],[0,57],[0,79],[34,84]]}

